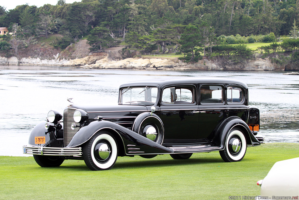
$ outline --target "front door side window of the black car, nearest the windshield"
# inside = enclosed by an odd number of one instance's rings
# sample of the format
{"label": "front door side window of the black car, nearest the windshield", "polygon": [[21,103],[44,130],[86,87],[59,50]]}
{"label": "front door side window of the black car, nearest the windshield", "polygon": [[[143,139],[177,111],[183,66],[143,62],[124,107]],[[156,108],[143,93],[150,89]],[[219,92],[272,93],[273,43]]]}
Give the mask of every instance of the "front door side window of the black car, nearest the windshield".
{"label": "front door side window of the black car, nearest the windshield", "polygon": [[162,92],[162,103],[181,104],[194,103],[193,87],[165,88]]}

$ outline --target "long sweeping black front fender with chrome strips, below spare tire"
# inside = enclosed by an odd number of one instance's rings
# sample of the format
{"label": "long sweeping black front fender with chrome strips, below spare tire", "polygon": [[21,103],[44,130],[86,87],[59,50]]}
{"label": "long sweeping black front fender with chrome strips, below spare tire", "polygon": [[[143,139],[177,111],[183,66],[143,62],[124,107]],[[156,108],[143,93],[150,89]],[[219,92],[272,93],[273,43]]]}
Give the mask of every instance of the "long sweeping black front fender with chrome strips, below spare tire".
{"label": "long sweeping black front fender with chrome strips, below spare tire", "polygon": [[110,121],[92,121],[89,125],[80,128],[66,147],[77,147],[87,142],[95,133],[103,129],[110,129],[120,136],[127,155],[140,154],[170,154],[173,150],[147,139],[123,126]]}

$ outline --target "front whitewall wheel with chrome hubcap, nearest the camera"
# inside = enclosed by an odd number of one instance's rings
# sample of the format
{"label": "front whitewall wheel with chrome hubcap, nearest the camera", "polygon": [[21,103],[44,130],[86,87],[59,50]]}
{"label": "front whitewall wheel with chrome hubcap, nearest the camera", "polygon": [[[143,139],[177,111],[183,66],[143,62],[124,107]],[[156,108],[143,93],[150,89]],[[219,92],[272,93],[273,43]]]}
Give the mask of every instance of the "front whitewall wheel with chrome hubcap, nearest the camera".
{"label": "front whitewall wheel with chrome hubcap, nearest the camera", "polygon": [[99,131],[83,146],[83,160],[94,171],[111,169],[117,157],[116,139],[108,131]]}

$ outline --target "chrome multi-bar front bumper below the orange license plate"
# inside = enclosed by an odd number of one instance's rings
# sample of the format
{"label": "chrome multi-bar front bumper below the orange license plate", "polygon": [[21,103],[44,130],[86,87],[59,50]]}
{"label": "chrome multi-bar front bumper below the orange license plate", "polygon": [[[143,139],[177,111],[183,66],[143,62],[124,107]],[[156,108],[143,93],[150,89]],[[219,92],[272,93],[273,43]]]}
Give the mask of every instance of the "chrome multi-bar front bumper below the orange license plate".
{"label": "chrome multi-bar front bumper below the orange license plate", "polygon": [[23,154],[34,154],[42,156],[82,156],[81,147],[35,147],[23,146]]}

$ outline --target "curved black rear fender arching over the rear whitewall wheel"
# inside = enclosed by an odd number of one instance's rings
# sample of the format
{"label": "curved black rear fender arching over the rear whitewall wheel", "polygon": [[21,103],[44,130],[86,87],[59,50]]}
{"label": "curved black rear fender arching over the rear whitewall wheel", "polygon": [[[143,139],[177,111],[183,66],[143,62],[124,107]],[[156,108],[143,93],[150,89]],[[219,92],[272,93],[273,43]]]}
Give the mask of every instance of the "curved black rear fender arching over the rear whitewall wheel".
{"label": "curved black rear fender arching over the rear whitewall wheel", "polygon": [[[256,139],[256,137],[253,135],[251,130],[249,129],[248,125],[243,121],[241,118],[233,116],[225,120],[222,125],[220,126],[220,129],[217,132],[217,136],[219,137],[220,144],[217,144],[217,146],[220,146],[221,150],[225,148],[225,142],[228,133],[233,127],[239,126],[243,133],[245,134],[246,140],[248,141],[249,145],[252,146],[258,146],[260,145],[260,142]],[[250,142],[250,143],[249,143]]]}

